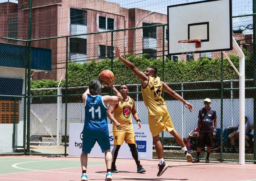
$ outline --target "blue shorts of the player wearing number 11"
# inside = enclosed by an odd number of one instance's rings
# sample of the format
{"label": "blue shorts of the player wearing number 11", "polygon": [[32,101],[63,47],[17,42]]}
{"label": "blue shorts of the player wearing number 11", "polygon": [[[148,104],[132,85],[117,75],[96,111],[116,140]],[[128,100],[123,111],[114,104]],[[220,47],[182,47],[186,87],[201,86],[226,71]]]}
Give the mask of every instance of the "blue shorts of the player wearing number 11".
{"label": "blue shorts of the player wearing number 11", "polygon": [[109,136],[106,136],[104,138],[89,138],[89,137],[86,137],[83,135],[82,151],[85,153],[90,153],[91,149],[93,148],[96,141],[98,142],[99,146],[101,147],[101,150],[103,153],[106,150],[110,149]]}

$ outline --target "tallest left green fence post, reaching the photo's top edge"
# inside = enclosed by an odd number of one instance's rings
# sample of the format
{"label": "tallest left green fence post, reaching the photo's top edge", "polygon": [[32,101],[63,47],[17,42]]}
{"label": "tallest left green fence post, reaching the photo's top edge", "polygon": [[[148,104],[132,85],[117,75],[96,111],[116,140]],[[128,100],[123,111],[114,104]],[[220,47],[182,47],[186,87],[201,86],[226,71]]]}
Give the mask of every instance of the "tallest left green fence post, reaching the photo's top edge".
{"label": "tallest left green fence post, reaching the photo's top edge", "polygon": [[[28,40],[31,39],[32,32],[32,0],[29,0],[29,20],[28,20]],[[30,153],[30,87],[31,87],[31,41],[28,42],[28,121],[27,121],[27,152]]]}

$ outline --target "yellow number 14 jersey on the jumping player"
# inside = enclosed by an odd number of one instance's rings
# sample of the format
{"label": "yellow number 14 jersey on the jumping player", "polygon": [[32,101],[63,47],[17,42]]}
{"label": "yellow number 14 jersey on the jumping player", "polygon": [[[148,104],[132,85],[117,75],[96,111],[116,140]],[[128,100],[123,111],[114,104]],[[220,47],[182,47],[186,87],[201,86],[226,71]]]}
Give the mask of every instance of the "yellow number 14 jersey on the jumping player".
{"label": "yellow number 14 jersey on the jumping player", "polygon": [[148,84],[144,88],[141,86],[144,104],[148,109],[148,115],[166,116],[169,115],[165,100],[161,97],[163,84],[159,77],[148,76]]}

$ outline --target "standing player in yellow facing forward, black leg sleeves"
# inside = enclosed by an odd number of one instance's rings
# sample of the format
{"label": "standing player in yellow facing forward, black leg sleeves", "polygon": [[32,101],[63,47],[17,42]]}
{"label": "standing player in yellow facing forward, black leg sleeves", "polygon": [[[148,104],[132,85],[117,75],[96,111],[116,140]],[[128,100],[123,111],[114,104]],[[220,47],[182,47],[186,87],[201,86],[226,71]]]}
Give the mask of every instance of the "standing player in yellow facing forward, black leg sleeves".
{"label": "standing player in yellow facing forward, black leg sleeves", "polygon": [[[137,165],[137,173],[143,173],[146,172],[146,170],[140,165],[131,113],[133,118],[137,121],[137,125],[139,126],[138,129],[141,128],[139,115],[134,106],[134,100],[130,96],[127,96],[127,93],[129,92],[128,86],[126,84],[120,85],[119,92],[122,95],[123,100],[118,103],[110,103],[107,111],[107,116],[113,122],[114,148],[112,150],[111,172],[118,173],[115,165],[116,158],[123,141],[125,141],[131,148],[132,156]],[[112,115],[113,113],[114,116]]]}

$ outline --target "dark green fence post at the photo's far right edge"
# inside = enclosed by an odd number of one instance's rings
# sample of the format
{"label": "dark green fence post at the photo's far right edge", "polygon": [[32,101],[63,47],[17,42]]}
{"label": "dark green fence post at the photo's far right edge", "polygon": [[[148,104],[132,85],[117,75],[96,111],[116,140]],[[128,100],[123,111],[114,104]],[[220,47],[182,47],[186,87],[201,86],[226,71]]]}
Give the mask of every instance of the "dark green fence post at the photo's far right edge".
{"label": "dark green fence post at the photo's far right edge", "polygon": [[[253,0],[253,13],[256,13],[256,0]],[[253,87],[256,87],[256,16],[253,16]],[[253,90],[253,124],[256,125],[256,90]],[[253,137],[256,138],[256,132],[254,131]],[[256,141],[253,143],[253,160],[256,161]],[[254,162],[256,163],[256,162]]]}

